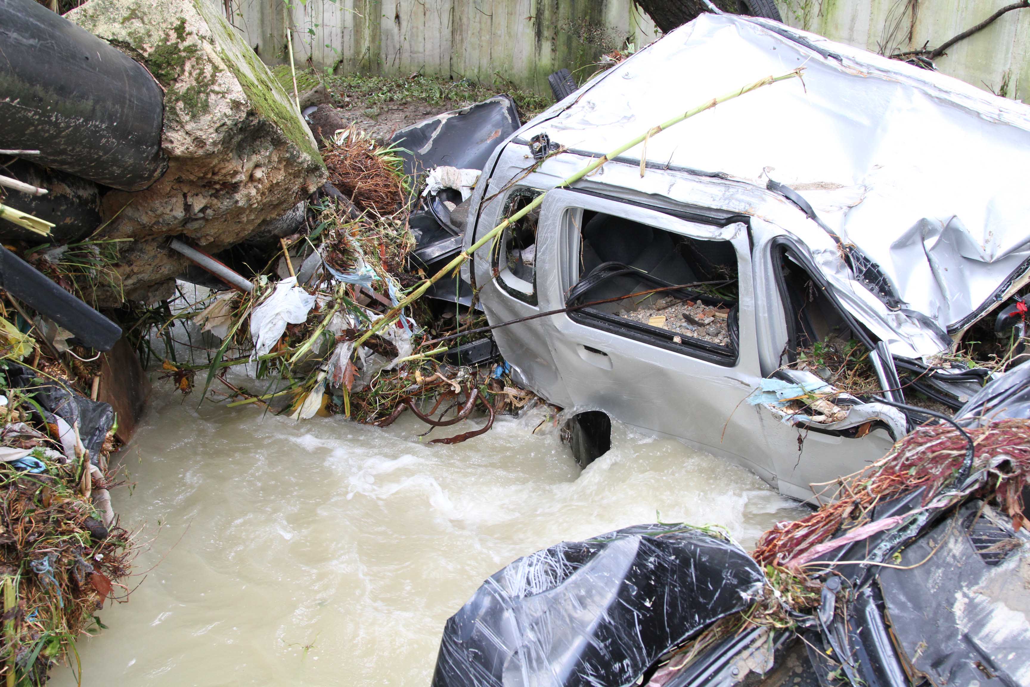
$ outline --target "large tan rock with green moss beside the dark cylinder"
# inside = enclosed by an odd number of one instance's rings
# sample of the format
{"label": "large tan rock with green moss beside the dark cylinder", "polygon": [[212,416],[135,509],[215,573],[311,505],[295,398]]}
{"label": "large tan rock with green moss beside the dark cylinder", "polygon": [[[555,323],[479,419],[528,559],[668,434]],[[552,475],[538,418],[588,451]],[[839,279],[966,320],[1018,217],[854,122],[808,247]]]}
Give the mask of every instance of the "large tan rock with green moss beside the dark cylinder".
{"label": "large tan rock with green moss beside the dark cylinder", "polygon": [[221,250],[263,233],[323,182],[296,103],[207,0],[90,0],[66,16],[165,88],[168,171],[145,191],[103,199],[104,235],[133,239],[118,265],[126,298],[163,295],[183,269],[167,237]]}

